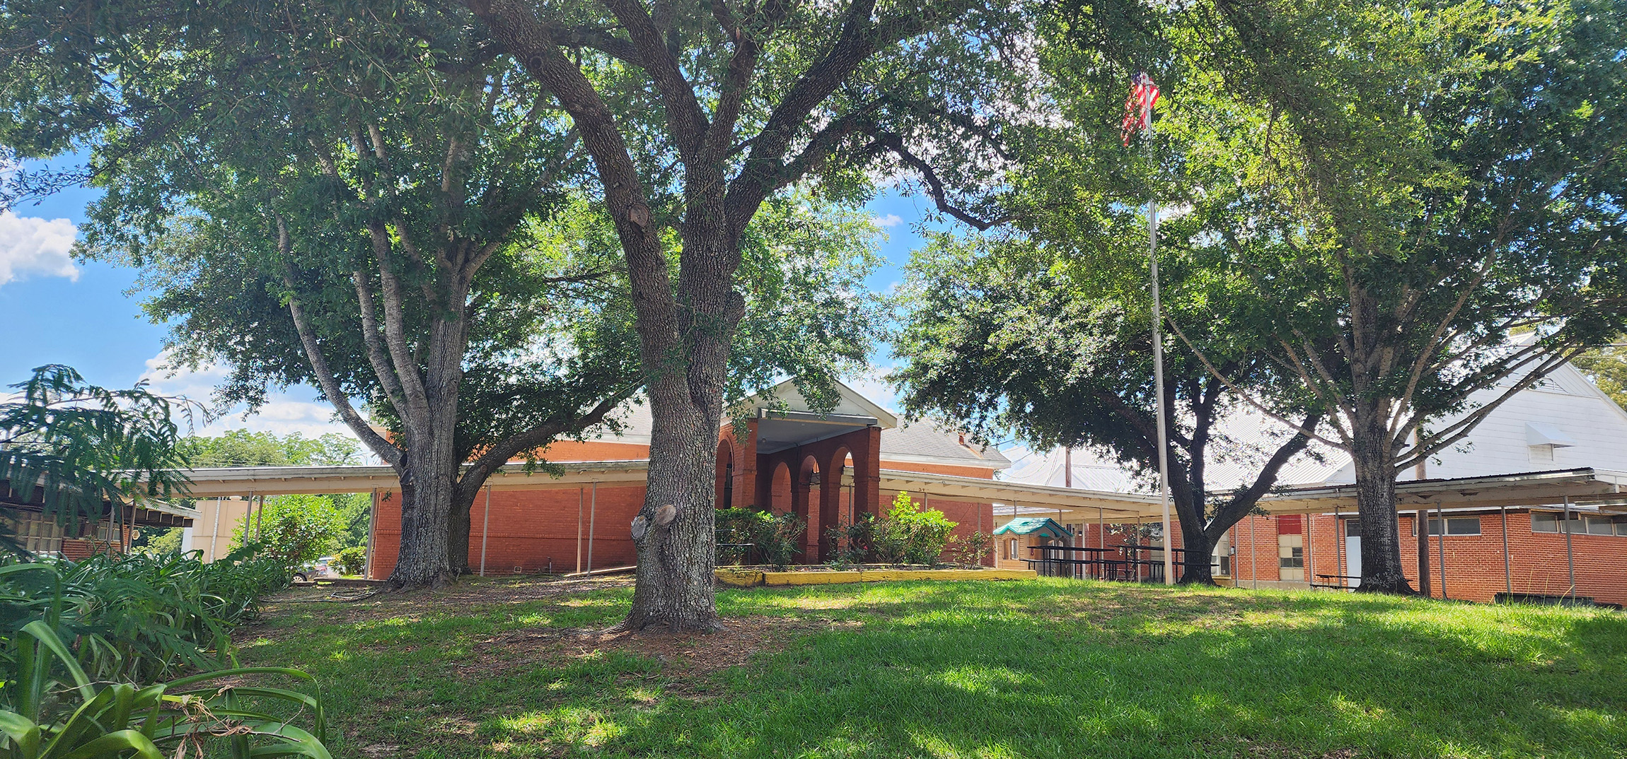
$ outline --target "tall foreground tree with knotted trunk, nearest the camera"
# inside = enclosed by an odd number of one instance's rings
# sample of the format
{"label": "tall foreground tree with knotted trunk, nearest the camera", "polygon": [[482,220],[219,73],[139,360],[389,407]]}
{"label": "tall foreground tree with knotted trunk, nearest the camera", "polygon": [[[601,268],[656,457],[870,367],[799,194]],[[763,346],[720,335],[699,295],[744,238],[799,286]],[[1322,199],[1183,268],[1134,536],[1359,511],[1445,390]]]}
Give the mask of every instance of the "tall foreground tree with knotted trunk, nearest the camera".
{"label": "tall foreground tree with knotted trunk, nearest the camera", "polygon": [[[628,629],[714,627],[713,449],[744,304],[740,236],[810,176],[906,171],[939,208],[997,161],[1028,37],[1001,2],[472,0],[597,171],[633,288],[656,426]],[[678,241],[677,265],[665,237]]]}

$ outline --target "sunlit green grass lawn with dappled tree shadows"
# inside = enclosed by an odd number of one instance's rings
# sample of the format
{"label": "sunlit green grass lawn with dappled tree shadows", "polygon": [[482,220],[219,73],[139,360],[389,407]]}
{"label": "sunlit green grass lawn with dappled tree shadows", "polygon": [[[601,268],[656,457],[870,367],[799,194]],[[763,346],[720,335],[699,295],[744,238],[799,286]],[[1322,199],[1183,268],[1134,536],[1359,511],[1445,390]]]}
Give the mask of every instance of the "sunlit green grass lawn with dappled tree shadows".
{"label": "sunlit green grass lawn with dappled tree shadows", "polygon": [[[1627,614],[1067,580],[726,590],[714,635],[600,639],[630,588],[280,603],[337,756],[1627,757]],[[527,600],[527,596],[532,596]]]}

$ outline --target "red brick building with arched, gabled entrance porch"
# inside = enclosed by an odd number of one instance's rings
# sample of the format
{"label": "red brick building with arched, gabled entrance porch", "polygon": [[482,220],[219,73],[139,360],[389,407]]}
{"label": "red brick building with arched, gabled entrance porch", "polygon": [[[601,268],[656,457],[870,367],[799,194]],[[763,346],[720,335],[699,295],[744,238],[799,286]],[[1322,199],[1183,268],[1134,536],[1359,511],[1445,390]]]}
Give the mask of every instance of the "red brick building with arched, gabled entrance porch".
{"label": "red brick building with arched, gabled entrance porch", "polygon": [[[807,522],[802,557],[810,564],[830,556],[830,527],[885,512],[900,491],[958,522],[958,535],[994,530],[992,499],[947,492],[968,491],[960,479],[994,486],[994,473],[1009,465],[1004,455],[931,423],[900,424],[857,392],[840,390],[830,411],[810,410],[789,382],[739,405],[718,434],[718,507],[796,512]],[[649,410],[633,405],[623,411],[618,432],[545,449],[550,463],[571,470],[568,479],[495,479],[470,510],[470,569],[522,574],[631,566],[630,525],[644,505],[649,429]],[[911,481],[911,473],[921,481]],[[389,575],[400,548],[394,496],[392,488],[377,492],[371,577]]]}

